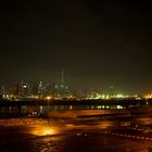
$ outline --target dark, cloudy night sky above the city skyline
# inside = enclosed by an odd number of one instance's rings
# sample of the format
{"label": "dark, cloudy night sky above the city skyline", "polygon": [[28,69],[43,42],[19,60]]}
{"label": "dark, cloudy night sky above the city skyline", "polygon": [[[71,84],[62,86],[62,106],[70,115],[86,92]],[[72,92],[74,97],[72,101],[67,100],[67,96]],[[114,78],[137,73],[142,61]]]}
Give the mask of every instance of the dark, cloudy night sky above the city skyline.
{"label": "dark, cloudy night sky above the city skyline", "polygon": [[149,0],[4,0],[0,4],[0,83],[152,90]]}

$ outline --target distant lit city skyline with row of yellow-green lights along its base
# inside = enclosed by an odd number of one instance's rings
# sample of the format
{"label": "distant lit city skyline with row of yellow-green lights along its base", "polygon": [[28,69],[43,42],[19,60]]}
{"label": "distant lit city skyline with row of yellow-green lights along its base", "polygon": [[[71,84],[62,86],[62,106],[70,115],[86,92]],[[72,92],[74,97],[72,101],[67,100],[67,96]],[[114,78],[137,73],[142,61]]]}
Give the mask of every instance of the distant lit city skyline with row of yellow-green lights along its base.
{"label": "distant lit city skyline with row of yellow-green lights along its base", "polygon": [[[114,89],[111,87],[111,89]],[[68,87],[64,79],[59,83],[52,83],[45,85],[43,81],[28,83],[16,83],[12,87],[7,87],[4,85],[0,86],[0,99],[5,99],[10,101],[21,101],[21,100],[125,100],[125,99],[152,99],[152,93],[142,96],[129,96],[116,92],[116,90],[107,91],[106,93],[99,91],[98,89],[74,89]]]}

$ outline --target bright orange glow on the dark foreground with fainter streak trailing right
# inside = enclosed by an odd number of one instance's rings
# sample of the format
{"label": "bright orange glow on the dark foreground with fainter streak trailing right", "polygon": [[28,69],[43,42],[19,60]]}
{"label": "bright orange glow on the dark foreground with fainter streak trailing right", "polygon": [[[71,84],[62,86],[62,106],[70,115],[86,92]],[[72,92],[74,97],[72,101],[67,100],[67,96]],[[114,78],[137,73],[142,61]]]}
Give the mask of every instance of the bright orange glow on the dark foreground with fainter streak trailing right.
{"label": "bright orange glow on the dark foreground with fainter streak trailing right", "polygon": [[43,124],[38,124],[38,125],[30,125],[28,128],[28,134],[34,135],[34,136],[55,136],[55,135],[60,135],[60,134],[67,134],[68,130],[88,130],[88,129],[105,129],[112,126],[116,126],[117,124],[114,122],[110,122],[110,121],[102,121],[102,122],[98,122],[96,123],[97,119],[92,119],[92,124],[88,123],[88,122],[84,122],[84,119],[81,121],[59,121],[53,122],[50,121],[48,124],[43,123]]}

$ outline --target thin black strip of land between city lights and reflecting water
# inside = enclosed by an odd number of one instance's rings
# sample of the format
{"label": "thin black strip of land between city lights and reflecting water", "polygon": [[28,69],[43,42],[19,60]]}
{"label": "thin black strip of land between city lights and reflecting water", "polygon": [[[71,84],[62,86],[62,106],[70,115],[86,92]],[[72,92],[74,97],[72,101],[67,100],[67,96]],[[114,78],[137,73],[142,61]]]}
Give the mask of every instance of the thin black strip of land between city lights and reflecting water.
{"label": "thin black strip of land between city lights and reflecting water", "polygon": [[0,101],[0,106],[10,105],[147,105],[152,100],[26,100],[26,101]]}

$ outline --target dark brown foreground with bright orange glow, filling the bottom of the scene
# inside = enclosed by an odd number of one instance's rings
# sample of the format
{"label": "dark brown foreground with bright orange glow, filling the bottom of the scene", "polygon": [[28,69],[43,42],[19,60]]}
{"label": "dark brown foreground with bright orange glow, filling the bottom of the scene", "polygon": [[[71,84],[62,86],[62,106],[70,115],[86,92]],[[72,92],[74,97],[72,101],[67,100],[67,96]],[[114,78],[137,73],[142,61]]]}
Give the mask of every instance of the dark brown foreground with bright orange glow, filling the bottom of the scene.
{"label": "dark brown foreground with bright orange glow, filling the bottom of the scene", "polygon": [[0,152],[147,152],[151,117],[1,118]]}

